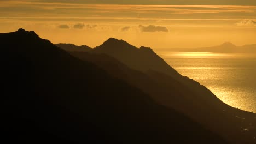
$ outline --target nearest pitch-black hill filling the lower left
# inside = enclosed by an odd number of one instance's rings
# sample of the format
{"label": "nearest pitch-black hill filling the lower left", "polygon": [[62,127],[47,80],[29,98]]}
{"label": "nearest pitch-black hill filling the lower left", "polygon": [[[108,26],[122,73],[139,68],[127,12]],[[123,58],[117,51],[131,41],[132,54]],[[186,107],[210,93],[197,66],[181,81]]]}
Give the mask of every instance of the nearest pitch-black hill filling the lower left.
{"label": "nearest pitch-black hill filling the lower left", "polygon": [[33,31],[0,34],[0,44],[2,141],[226,143]]}

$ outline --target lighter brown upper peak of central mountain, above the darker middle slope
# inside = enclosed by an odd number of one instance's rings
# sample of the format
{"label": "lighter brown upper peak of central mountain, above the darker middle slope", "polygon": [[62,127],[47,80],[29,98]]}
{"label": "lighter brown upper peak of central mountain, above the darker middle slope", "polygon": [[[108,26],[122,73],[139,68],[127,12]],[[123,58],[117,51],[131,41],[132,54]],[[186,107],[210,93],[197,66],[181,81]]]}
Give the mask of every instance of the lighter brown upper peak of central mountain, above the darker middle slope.
{"label": "lighter brown upper peak of central mountain, above the darker middle slope", "polygon": [[[156,55],[152,49],[148,47],[140,47],[128,44],[126,41],[110,38],[102,45],[95,47],[89,51],[90,53],[105,53],[118,59],[120,62],[126,64],[128,67],[140,71],[147,71],[149,69],[157,69],[163,73],[178,75],[177,71]],[[167,69],[165,69],[167,68]]]}

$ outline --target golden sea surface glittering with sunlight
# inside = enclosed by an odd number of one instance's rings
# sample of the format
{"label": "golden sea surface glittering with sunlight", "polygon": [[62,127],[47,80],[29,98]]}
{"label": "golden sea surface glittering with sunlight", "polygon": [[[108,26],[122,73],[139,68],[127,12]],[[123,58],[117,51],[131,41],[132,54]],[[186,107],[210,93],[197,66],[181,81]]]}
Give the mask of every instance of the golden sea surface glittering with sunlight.
{"label": "golden sea surface glittering with sunlight", "polygon": [[156,53],[180,74],[206,86],[224,103],[256,113],[256,55]]}

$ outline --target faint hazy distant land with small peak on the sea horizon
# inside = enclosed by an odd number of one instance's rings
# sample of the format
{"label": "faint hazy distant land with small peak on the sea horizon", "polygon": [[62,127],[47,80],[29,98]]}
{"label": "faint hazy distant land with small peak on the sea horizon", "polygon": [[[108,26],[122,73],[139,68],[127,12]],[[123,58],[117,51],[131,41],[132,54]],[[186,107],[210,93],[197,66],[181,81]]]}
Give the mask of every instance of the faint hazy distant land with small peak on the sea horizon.
{"label": "faint hazy distant land with small peak on the sea horizon", "polygon": [[173,52],[217,52],[217,53],[256,53],[256,44],[236,46],[226,42],[221,45],[201,48],[159,49]]}

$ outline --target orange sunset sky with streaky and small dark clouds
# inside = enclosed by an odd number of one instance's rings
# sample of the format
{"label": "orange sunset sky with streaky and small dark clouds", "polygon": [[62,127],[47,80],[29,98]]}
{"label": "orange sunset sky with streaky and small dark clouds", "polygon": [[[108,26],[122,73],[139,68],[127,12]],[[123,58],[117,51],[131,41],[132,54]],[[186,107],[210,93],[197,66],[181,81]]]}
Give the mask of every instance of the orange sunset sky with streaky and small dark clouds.
{"label": "orange sunset sky with streaky and small dark clouds", "polygon": [[19,28],[90,47],[110,37],[153,49],[240,46],[256,44],[256,1],[1,0],[0,33]]}

